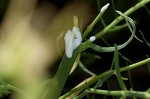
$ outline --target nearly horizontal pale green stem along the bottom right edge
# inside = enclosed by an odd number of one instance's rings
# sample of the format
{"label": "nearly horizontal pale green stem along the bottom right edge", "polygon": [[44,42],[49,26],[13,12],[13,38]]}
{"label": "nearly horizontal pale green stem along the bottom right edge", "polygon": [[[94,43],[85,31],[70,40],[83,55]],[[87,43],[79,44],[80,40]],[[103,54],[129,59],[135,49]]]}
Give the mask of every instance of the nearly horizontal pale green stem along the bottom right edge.
{"label": "nearly horizontal pale green stem along the bottom right edge", "polygon": [[109,91],[109,90],[99,90],[99,89],[89,89],[86,90],[87,93],[94,93],[94,94],[102,94],[102,95],[111,95],[111,96],[130,96],[130,97],[137,97],[142,99],[150,99],[150,93],[148,92],[141,92],[141,91]]}

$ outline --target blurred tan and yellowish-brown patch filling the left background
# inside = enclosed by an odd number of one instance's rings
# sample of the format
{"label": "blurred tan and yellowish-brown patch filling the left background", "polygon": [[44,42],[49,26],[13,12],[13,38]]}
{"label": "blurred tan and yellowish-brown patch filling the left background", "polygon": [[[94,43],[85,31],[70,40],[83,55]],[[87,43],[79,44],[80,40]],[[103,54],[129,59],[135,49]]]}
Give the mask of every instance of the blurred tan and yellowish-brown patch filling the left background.
{"label": "blurred tan and yellowish-brown patch filling the left background", "polygon": [[72,28],[73,16],[85,29],[95,16],[91,9],[86,0],[70,0],[61,8],[48,0],[10,0],[0,26],[0,77],[38,99],[36,88],[64,53],[64,34]]}

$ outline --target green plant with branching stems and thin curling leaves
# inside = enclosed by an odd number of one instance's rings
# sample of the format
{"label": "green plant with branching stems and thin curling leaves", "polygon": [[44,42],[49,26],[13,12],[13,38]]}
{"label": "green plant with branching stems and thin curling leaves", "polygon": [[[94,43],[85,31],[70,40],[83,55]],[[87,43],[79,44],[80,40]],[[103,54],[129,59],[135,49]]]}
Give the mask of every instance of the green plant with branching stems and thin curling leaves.
{"label": "green plant with branching stems and thin curling leaves", "polygon": [[[59,99],[66,99],[66,98],[81,99],[91,93],[93,94],[93,96],[91,96],[93,98],[95,94],[104,95],[104,96],[110,95],[112,97],[118,96],[121,99],[125,99],[127,97],[147,98],[147,99],[150,98],[149,90],[136,91],[136,90],[132,90],[132,88],[129,90],[126,87],[126,83],[125,83],[125,80],[128,80],[128,78],[124,78],[122,76],[122,72],[124,71],[129,71],[131,69],[142,66],[143,64],[148,64],[150,62],[150,58],[146,58],[144,60],[141,60],[136,63],[132,63],[124,67],[121,67],[120,61],[119,61],[120,57],[122,57],[125,61],[128,61],[128,62],[130,61],[128,58],[123,56],[119,52],[119,50],[129,45],[133,41],[134,38],[136,38],[140,42],[143,42],[137,37],[136,35],[137,31],[136,31],[136,25],[135,25],[136,22],[132,18],[130,18],[129,15],[134,13],[136,10],[140,9],[141,7],[145,6],[149,2],[150,0],[141,0],[136,5],[134,5],[127,11],[125,11],[124,13],[119,10],[115,10],[115,8],[113,8],[115,12],[117,13],[116,15],[117,17],[109,25],[104,27],[104,29],[96,33],[95,36],[91,35],[92,37],[95,37],[96,40],[98,40],[98,39],[102,39],[104,35],[107,35],[111,32],[117,32],[128,27],[129,31],[131,32],[131,36],[129,37],[129,39],[123,44],[115,43],[114,46],[112,47],[111,46],[102,47],[98,45],[97,43],[95,43],[95,40],[90,40],[88,38],[88,36],[90,35],[95,25],[99,22],[99,20],[103,19],[102,18],[103,15],[107,12],[107,9],[109,9],[108,7],[109,5],[107,6],[108,8],[105,8],[105,9],[102,7],[103,10],[99,12],[99,14],[93,20],[93,22],[87,27],[87,29],[83,33],[82,43],[79,46],[77,46],[77,48],[73,49],[73,55],[71,54],[71,57],[68,58],[66,54],[64,54],[59,64],[59,68],[56,74],[52,78],[46,81],[43,81],[43,83],[39,85],[40,87],[37,88],[38,90],[43,91],[44,89],[44,91],[42,92],[41,98],[42,99],[58,99],[58,98]],[[123,20],[125,20],[125,22]],[[124,23],[122,24],[121,21],[123,21]],[[145,39],[143,33],[142,33],[142,37],[143,37],[144,42],[146,42],[146,44],[150,46],[148,41]],[[67,37],[65,39],[69,39],[69,38]],[[72,36],[71,40],[72,39],[75,39],[74,36]],[[114,57],[112,59],[112,66],[110,66],[110,69],[103,73],[96,74],[90,71],[88,68],[86,68],[86,66],[80,59],[80,57],[84,54],[84,52],[86,52],[89,49],[90,50],[92,49],[95,52],[101,52],[101,53],[114,52],[113,53]],[[96,56],[93,53],[86,54],[86,55],[91,55],[92,57],[97,57],[99,59],[99,56],[98,55]],[[66,84],[68,77],[70,76],[70,71],[73,68],[75,62],[78,63],[80,68],[84,72],[89,74],[90,77],[85,79],[79,85],[77,85],[76,87],[74,87],[73,89],[71,89],[70,91],[62,95],[63,88]],[[120,86],[120,89],[119,90],[103,90],[102,89],[103,84],[106,83],[107,80],[113,76],[117,78],[117,82]],[[0,82],[0,97],[10,93],[10,90],[16,91],[18,94],[21,94],[24,97],[28,97],[27,93],[25,93],[23,90],[11,84],[6,84],[3,81]]]}

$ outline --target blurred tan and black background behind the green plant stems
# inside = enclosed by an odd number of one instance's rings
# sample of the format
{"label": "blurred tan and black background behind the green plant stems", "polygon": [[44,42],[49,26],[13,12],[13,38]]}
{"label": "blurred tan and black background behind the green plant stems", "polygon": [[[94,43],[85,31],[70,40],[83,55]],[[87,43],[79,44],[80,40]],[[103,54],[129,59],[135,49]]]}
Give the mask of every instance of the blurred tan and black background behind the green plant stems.
{"label": "blurred tan and black background behind the green plant stems", "polygon": [[[64,54],[63,37],[65,32],[73,26],[73,16],[78,17],[79,28],[83,33],[99,13],[100,8],[108,2],[110,7],[104,14],[103,20],[96,24],[88,37],[102,30],[117,16],[114,9],[124,12],[139,0],[0,0],[2,42],[0,72],[3,72],[4,67],[7,67],[4,70],[11,72],[9,75],[4,74],[4,78],[11,78],[8,82],[13,81],[13,84],[19,86],[22,86],[20,83],[31,86],[35,81],[41,80],[43,75],[53,76]],[[136,22],[136,35],[143,40],[139,32],[141,30],[148,42],[150,42],[150,12],[146,9],[150,9],[149,6],[150,4],[147,4],[146,7],[130,15]],[[102,24],[102,21],[105,24]],[[110,46],[113,46],[114,43],[122,44],[130,35],[128,28],[124,28],[104,35],[103,38]],[[104,40],[98,39],[95,43],[108,46]],[[119,52],[134,63],[149,57],[150,47],[145,42],[141,43],[134,39]],[[100,59],[85,53],[98,55]],[[97,53],[89,49],[85,53],[81,54],[81,61],[95,74],[103,73],[111,68],[113,52]],[[120,67],[127,64],[131,63],[120,57]],[[131,70],[130,73],[132,83],[125,81],[128,89],[132,87],[133,90],[145,91],[150,87],[150,72],[147,64]],[[68,78],[63,93],[88,77],[90,77],[89,74],[77,67]],[[128,78],[128,72],[123,72],[123,77]],[[120,89],[116,77],[111,77],[107,83],[104,83],[102,89]],[[8,99],[10,96],[11,94],[8,94],[1,99]]]}

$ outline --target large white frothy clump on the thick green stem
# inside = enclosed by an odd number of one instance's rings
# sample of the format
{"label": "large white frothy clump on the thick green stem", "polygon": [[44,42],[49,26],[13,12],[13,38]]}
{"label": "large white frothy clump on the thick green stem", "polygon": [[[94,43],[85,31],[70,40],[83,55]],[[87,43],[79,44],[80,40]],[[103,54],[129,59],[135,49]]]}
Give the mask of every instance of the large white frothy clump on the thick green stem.
{"label": "large white frothy clump on the thick green stem", "polygon": [[71,30],[68,30],[65,37],[65,53],[68,58],[72,57],[73,50],[76,49],[82,42],[82,36],[79,28],[74,26]]}

